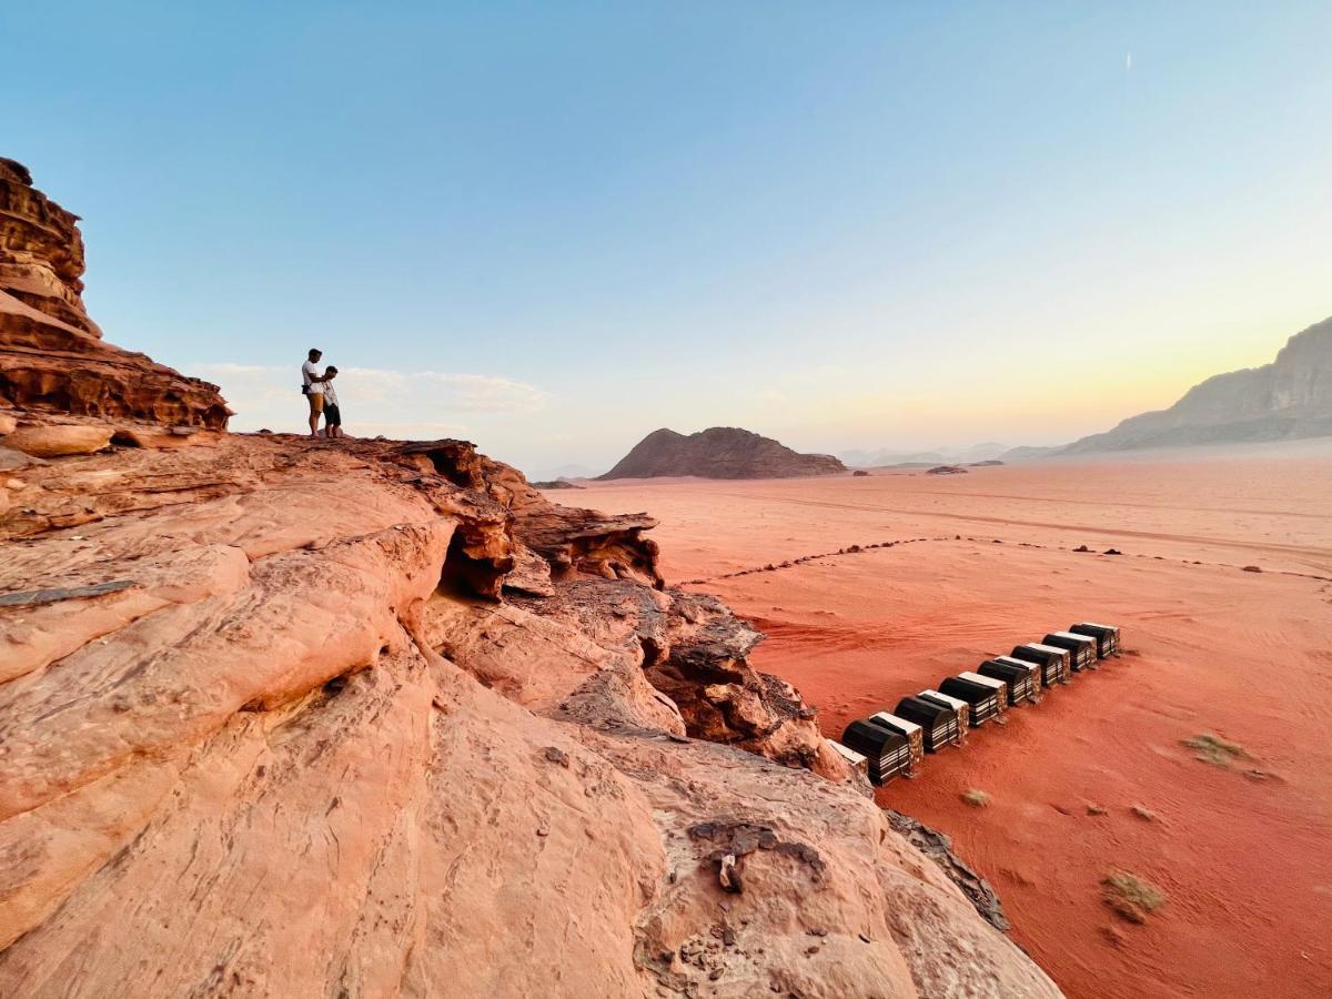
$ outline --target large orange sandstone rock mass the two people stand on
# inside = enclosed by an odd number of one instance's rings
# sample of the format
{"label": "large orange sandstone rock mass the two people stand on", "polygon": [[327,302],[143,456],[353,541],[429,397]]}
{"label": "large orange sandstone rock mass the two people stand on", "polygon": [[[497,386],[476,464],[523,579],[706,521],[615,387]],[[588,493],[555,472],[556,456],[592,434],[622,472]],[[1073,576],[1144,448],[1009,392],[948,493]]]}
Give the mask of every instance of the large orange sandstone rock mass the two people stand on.
{"label": "large orange sandstone rock mass the two people stand on", "polygon": [[462,441],[105,445],[225,406],[41,286],[69,314],[0,324],[0,995],[1058,995],[650,517]]}

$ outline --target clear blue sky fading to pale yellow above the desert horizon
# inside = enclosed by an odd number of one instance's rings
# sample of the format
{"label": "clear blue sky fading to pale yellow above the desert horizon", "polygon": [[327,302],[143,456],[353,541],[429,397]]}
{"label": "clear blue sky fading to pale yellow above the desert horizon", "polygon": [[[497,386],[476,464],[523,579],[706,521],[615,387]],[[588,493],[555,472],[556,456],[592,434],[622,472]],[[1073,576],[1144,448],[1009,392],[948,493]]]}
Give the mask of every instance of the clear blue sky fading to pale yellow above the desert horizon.
{"label": "clear blue sky fading to pale yellow above the desert horizon", "polygon": [[533,474],[1056,444],[1332,314],[1332,3],[0,5],[109,340]]}

